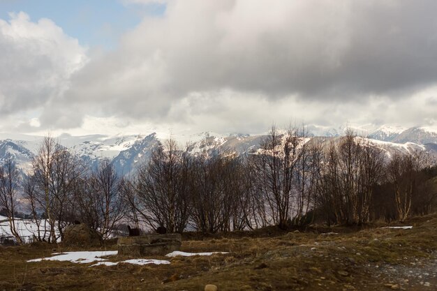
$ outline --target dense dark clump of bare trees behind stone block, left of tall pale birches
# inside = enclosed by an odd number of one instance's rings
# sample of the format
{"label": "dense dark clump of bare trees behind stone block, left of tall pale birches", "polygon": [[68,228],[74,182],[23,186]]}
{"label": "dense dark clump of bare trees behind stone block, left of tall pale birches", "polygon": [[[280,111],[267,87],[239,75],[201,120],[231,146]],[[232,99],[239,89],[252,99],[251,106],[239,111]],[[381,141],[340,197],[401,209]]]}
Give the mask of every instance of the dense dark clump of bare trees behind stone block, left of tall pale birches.
{"label": "dense dark clump of bare trees behind stone block, left of tall pale birches", "polygon": [[[149,163],[126,182],[131,209],[152,229],[169,232],[187,227],[204,232],[242,229],[246,223],[239,209],[244,181],[235,153],[206,152],[193,156],[168,140],[152,151]],[[241,215],[240,215],[241,216]],[[232,224],[232,225],[231,225]]]}

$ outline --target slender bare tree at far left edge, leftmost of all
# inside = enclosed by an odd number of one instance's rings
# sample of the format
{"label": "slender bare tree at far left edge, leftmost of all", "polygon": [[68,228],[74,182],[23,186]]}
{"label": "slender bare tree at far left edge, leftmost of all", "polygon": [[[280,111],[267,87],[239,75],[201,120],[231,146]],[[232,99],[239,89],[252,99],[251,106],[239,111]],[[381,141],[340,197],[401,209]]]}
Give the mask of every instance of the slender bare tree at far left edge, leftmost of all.
{"label": "slender bare tree at far left edge, leftmost of all", "polygon": [[4,165],[0,165],[0,207],[6,209],[10,232],[18,244],[23,241],[15,225],[15,210],[17,191],[20,188],[20,172],[12,158],[8,158]]}

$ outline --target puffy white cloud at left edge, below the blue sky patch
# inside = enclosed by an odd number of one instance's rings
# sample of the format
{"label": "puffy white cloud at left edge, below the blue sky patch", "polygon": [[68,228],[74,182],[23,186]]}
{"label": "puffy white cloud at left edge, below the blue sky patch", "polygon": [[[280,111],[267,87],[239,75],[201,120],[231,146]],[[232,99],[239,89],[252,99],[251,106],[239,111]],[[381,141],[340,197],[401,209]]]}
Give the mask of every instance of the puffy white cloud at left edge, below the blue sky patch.
{"label": "puffy white cloud at left edge, below the blue sky patch", "polygon": [[0,116],[50,107],[86,61],[86,49],[51,20],[10,13],[0,20]]}

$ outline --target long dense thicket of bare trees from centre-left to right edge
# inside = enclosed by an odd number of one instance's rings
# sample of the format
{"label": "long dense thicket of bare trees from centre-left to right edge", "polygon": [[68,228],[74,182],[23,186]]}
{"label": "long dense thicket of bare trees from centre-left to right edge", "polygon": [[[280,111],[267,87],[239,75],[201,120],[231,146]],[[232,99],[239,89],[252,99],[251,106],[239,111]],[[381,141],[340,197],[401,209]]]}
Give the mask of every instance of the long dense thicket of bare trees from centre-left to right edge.
{"label": "long dense thicket of bare trees from centre-left to right edge", "polygon": [[139,218],[175,232],[286,228],[315,219],[360,225],[432,211],[437,191],[424,174],[432,165],[424,151],[390,153],[352,130],[324,142],[304,128],[272,128],[245,156],[193,155],[169,140],[140,167],[128,192]]}

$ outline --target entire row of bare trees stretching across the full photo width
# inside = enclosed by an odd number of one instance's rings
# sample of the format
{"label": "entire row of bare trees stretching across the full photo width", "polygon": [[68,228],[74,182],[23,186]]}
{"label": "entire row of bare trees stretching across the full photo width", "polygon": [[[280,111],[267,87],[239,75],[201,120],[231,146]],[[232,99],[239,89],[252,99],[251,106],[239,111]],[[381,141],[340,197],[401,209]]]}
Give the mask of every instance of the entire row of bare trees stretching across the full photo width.
{"label": "entire row of bare trees stretching across the full photo width", "polygon": [[[110,237],[121,222],[168,232],[224,232],[267,225],[362,224],[404,221],[434,210],[437,191],[424,151],[387,154],[352,131],[325,142],[304,128],[272,128],[257,151],[193,154],[175,140],[159,144],[129,179],[108,160],[94,168],[45,137],[30,174],[22,179],[12,159],[0,167],[0,207],[20,242],[17,193],[34,216],[36,239],[64,236],[74,221]],[[427,174],[428,173],[428,174]]]}

